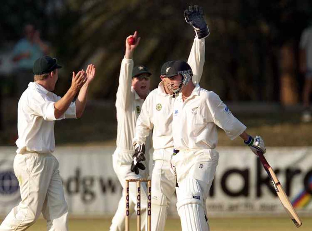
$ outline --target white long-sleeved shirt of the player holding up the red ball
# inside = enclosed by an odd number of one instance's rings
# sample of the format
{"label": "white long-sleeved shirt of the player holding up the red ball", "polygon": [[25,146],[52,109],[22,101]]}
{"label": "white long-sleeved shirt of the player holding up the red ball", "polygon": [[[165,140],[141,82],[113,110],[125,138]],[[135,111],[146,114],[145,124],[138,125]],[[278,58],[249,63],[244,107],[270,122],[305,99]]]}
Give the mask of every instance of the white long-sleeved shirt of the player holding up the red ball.
{"label": "white long-sleeved shirt of the player holding up the red ball", "polygon": [[[116,145],[122,150],[134,150],[132,139],[135,125],[141,111],[143,99],[131,86],[133,60],[124,58],[121,62],[119,86],[116,94],[117,109],[117,139]],[[149,134],[148,134],[149,135]],[[145,144],[145,150],[150,148],[150,140]]]}

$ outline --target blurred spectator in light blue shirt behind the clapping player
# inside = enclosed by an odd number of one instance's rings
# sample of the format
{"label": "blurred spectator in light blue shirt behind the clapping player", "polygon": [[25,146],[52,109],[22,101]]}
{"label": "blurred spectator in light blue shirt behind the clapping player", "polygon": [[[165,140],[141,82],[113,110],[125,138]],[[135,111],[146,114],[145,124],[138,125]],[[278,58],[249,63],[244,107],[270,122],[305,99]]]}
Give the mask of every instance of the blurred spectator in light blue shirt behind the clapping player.
{"label": "blurred spectator in light blue shirt behind the clapping player", "polygon": [[40,32],[35,30],[34,25],[25,25],[24,35],[25,37],[15,45],[12,59],[17,64],[16,86],[18,97],[27,88],[28,83],[32,81],[34,62],[49,52],[48,45],[41,40]]}

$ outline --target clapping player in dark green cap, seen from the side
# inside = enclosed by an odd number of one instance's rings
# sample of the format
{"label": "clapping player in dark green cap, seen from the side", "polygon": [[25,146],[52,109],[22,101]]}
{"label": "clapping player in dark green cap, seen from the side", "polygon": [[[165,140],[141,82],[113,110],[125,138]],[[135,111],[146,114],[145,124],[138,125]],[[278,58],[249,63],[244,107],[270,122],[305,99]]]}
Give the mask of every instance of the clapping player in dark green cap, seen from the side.
{"label": "clapping player in dark green cap, seen from the side", "polygon": [[47,221],[47,230],[68,230],[59,162],[51,154],[55,148],[54,121],[82,115],[95,67],[90,64],[86,72],[73,72],[71,87],[62,98],[51,92],[58,79],[58,68],[61,66],[55,58],[37,59],[33,66],[34,82],[28,84],[18,102],[18,149],[13,168],[22,200],[3,220],[1,231],[26,230],[40,213]]}

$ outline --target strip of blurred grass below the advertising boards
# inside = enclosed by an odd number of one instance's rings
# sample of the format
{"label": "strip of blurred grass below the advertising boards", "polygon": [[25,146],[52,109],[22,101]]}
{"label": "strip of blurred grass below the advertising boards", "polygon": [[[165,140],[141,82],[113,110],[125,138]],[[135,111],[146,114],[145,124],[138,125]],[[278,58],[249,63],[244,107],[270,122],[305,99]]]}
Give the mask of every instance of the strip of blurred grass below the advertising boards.
{"label": "strip of blurred grass below the advertising boards", "polygon": [[[286,217],[254,217],[254,218],[211,218],[211,231],[310,231],[312,228],[312,218],[303,217],[303,225],[298,229],[293,222]],[[130,230],[136,230],[136,221],[131,220]],[[70,219],[69,229],[71,231],[102,231],[109,230],[110,219]],[[46,230],[46,222],[39,219],[30,231]],[[179,219],[168,219],[166,221],[166,231],[181,230]]]}

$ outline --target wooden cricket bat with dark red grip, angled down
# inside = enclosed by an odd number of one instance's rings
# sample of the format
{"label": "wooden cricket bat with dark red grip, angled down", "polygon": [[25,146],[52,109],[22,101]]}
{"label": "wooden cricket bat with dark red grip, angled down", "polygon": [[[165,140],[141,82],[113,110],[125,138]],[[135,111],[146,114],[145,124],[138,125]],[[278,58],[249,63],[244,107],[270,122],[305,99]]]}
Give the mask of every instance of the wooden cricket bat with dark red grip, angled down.
{"label": "wooden cricket bat with dark red grip, angled down", "polygon": [[260,159],[264,169],[266,170],[266,172],[268,173],[268,175],[271,179],[271,182],[274,186],[274,189],[277,193],[278,198],[280,199],[280,202],[284,206],[284,208],[285,208],[286,212],[288,213],[290,219],[295,223],[297,228],[300,227],[302,225],[302,221],[300,220],[296,210],[294,209],[294,207],[290,203],[290,200],[288,199],[282,185],[280,184],[280,181],[277,179],[277,176],[275,175],[273,169],[271,168],[271,166],[269,165],[266,158],[264,157],[264,155],[261,152],[257,152],[257,154],[259,156],[259,159]]}

